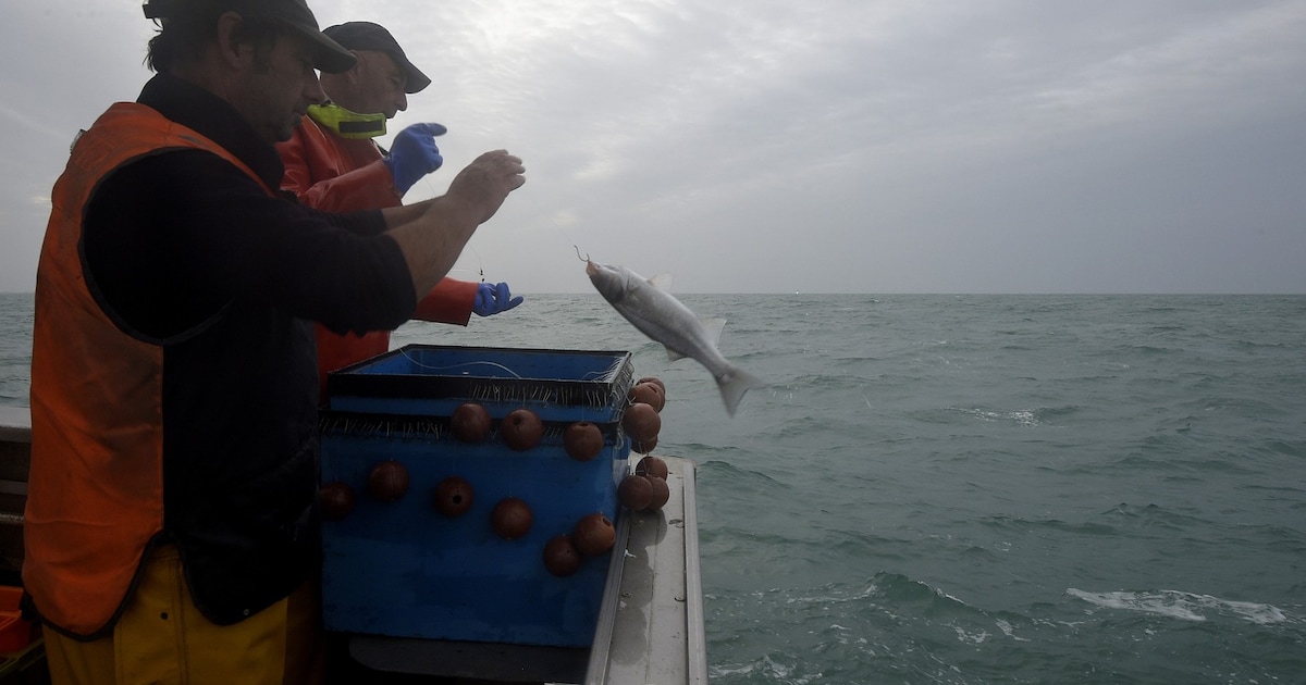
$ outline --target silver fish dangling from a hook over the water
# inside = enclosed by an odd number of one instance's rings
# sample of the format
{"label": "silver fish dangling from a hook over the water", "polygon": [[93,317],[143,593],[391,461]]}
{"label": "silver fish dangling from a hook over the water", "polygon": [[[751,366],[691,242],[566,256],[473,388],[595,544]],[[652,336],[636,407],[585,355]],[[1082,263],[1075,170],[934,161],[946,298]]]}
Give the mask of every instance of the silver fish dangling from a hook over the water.
{"label": "silver fish dangling from a hook over the water", "polygon": [[599,295],[641,333],[662,343],[673,361],[690,358],[703,364],[721,389],[726,411],[734,416],[743,394],[767,384],[721,356],[724,318],[700,320],[688,307],[666,291],[669,275],[644,277],[624,266],[611,266],[585,260],[585,273]]}

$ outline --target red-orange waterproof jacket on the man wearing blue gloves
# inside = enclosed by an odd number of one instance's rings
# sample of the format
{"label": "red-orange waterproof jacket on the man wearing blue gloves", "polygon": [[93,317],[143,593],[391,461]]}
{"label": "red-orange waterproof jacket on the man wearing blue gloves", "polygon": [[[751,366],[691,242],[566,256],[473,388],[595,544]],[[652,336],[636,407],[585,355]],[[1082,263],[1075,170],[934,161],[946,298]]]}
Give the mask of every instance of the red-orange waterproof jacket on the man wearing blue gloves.
{"label": "red-orange waterproof jacket on the man wearing blue gloves", "polygon": [[[286,164],[283,190],[324,211],[358,211],[394,207],[402,196],[390,170],[371,140],[342,138],[304,116],[294,136],[277,144]],[[475,304],[478,283],[441,279],[417,305],[413,318],[466,326]],[[358,335],[333,333],[317,326],[317,373],[323,393],[326,373],[389,351],[390,331]]]}

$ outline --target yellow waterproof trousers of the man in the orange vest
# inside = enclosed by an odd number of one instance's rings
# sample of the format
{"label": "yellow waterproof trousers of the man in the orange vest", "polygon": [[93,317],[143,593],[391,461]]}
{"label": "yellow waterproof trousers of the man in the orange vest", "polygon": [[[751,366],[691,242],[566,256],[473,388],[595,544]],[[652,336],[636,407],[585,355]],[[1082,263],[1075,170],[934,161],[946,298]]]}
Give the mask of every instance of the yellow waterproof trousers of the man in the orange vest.
{"label": "yellow waterproof trousers of the man in the orange vest", "polygon": [[78,642],[46,630],[52,685],[279,685],[321,682],[317,583],[229,626],[191,601],[176,549],[146,562],[114,634]]}

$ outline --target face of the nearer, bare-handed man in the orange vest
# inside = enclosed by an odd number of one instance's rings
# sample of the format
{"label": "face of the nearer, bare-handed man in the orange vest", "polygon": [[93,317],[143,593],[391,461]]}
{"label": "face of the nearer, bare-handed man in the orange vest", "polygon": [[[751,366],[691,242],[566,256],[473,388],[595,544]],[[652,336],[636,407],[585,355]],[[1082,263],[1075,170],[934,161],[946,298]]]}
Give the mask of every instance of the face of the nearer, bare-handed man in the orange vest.
{"label": "face of the nearer, bare-handed man in the orange vest", "polygon": [[307,38],[282,33],[270,50],[251,50],[251,68],[244,74],[246,94],[236,108],[268,142],[290,140],[310,104],[325,100],[313,51]]}

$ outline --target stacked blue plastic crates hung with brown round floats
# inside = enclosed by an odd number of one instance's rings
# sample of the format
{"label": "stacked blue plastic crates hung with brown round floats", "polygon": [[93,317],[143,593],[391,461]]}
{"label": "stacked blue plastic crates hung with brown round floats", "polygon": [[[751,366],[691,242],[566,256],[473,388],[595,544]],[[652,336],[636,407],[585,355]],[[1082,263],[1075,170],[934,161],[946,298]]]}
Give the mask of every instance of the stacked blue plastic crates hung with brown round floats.
{"label": "stacked blue plastic crates hung with brown round floats", "polygon": [[[494,367],[478,360],[516,374],[491,376],[486,369]],[[353,381],[340,382],[342,376]],[[323,481],[349,484],[357,508],[323,527],[326,628],[589,646],[610,556],[586,558],[577,573],[558,578],[545,569],[542,552],[586,514],[616,521],[616,485],[629,458],[619,419],[631,377],[627,352],[430,346],[333,374],[323,414]],[[526,451],[508,449],[496,433],[477,445],[458,442],[448,416],[468,401],[490,410],[495,424],[530,407],[546,420],[545,437]],[[576,420],[605,432],[603,451],[589,462],[572,459],[562,445],[562,431]],[[368,472],[387,459],[402,463],[410,478],[407,495],[393,504],[367,495]],[[471,483],[474,504],[448,518],[435,510],[432,491],[454,475]],[[525,500],[534,517],[517,540],[498,538],[490,526],[494,505],[509,496]]]}

